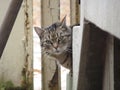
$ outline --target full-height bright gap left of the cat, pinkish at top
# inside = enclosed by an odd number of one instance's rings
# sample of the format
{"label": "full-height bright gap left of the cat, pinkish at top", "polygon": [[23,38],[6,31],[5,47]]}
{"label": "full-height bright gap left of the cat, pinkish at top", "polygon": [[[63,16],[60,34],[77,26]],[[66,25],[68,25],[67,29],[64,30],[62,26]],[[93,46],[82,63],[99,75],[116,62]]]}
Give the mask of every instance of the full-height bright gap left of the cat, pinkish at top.
{"label": "full-height bright gap left of the cat, pinkish at top", "polygon": [[[41,26],[41,0],[33,0],[33,27]],[[33,28],[33,82],[34,90],[42,90],[40,40]]]}

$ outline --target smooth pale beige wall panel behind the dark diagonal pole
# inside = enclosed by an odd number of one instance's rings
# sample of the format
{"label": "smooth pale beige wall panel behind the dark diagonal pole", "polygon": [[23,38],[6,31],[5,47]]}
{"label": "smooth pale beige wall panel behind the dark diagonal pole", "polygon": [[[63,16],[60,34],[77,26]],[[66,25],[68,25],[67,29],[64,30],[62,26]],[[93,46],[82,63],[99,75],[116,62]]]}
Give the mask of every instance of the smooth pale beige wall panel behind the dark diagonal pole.
{"label": "smooth pale beige wall panel behind the dark diagonal pole", "polygon": [[[8,6],[8,0],[2,1],[4,6],[1,6],[1,10]],[[22,7],[23,8],[23,7]],[[19,15],[17,17],[9,40],[7,42],[6,48],[4,50],[3,56],[0,60],[0,77],[5,81],[12,80],[16,85],[21,83],[21,71],[24,66],[24,45],[22,39],[24,37],[24,11],[21,8]],[[7,8],[6,8],[7,10]],[[6,11],[5,10],[5,11]],[[2,13],[2,11],[0,11]],[[2,17],[5,16],[2,15]]]}

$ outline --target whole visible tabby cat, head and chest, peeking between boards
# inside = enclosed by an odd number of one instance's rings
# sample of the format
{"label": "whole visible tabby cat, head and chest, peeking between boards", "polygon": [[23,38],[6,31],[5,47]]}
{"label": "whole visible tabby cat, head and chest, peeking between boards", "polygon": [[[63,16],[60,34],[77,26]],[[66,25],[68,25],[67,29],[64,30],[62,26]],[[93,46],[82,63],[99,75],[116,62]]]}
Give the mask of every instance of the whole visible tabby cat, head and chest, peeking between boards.
{"label": "whole visible tabby cat, head and chest, peeking between boards", "polygon": [[71,71],[72,29],[66,25],[66,16],[61,22],[56,22],[47,28],[34,28],[41,41],[42,54],[46,53],[56,58],[62,66]]}

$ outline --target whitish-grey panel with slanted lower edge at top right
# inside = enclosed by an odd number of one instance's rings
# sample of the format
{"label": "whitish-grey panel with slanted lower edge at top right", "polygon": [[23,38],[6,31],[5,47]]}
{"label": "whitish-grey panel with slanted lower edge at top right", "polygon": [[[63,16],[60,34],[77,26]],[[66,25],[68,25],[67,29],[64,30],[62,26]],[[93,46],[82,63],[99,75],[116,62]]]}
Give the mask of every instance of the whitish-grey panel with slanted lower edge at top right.
{"label": "whitish-grey panel with slanted lower edge at top right", "polygon": [[120,0],[81,0],[81,15],[82,18],[120,38],[119,5]]}

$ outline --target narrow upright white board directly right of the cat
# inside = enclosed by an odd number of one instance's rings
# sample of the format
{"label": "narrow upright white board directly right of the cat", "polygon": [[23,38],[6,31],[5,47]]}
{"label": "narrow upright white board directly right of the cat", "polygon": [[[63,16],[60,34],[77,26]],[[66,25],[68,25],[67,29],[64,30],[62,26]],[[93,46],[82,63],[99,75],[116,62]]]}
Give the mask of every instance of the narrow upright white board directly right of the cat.
{"label": "narrow upright white board directly right of the cat", "polygon": [[77,90],[79,63],[80,63],[80,51],[82,45],[82,30],[80,26],[73,28],[73,88]]}

